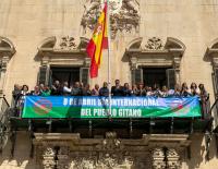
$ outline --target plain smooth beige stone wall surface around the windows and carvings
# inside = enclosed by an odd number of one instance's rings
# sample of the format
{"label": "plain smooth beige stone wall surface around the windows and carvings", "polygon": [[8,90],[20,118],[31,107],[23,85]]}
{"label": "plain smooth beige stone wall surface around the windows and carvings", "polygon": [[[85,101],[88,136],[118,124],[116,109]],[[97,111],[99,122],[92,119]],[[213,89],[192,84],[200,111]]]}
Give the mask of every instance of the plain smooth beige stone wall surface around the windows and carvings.
{"label": "plain smooth beige stone wall surface around the windows and carvings", "polygon": [[[138,33],[120,33],[112,40],[112,82],[130,82],[129,61],[122,61],[126,46],[131,40],[143,37],[167,37],[180,39],[186,50],[181,63],[181,82],[204,83],[214,100],[210,62],[204,61],[209,44],[218,37],[218,1],[216,0],[138,0],[141,23]],[[33,88],[37,81],[40,60],[36,58],[37,47],[51,36],[70,35],[78,39],[84,34],[81,19],[85,0],[1,0],[0,1],[0,36],[9,38],[15,46],[16,53],[9,62],[4,94],[11,99],[15,83],[27,84]],[[105,53],[105,52],[104,52]],[[106,56],[106,55],[105,55]],[[104,57],[99,77],[92,80],[101,84],[107,80],[107,62]],[[25,168],[31,166],[28,158],[29,142],[26,134],[17,135],[14,158],[8,153],[1,157],[1,168]],[[192,137],[192,158],[186,168],[217,168],[215,143],[211,147],[211,159],[205,161],[204,140],[201,135]],[[5,150],[7,152],[7,150]],[[5,155],[5,156],[4,156]],[[185,166],[185,165],[184,165]],[[29,167],[32,168],[32,166]]]}

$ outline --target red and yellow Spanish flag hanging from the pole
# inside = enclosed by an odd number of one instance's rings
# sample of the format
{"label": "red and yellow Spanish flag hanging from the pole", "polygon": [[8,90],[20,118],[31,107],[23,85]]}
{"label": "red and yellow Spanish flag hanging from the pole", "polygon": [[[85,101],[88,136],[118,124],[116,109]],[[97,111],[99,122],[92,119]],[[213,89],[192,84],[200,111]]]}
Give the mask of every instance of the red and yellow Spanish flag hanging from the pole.
{"label": "red and yellow Spanish flag hanging from the pole", "polygon": [[102,49],[108,48],[107,38],[107,3],[105,3],[104,10],[100,13],[97,25],[94,29],[93,37],[89,40],[86,51],[90,57],[90,77],[98,76],[98,68],[100,67]]}

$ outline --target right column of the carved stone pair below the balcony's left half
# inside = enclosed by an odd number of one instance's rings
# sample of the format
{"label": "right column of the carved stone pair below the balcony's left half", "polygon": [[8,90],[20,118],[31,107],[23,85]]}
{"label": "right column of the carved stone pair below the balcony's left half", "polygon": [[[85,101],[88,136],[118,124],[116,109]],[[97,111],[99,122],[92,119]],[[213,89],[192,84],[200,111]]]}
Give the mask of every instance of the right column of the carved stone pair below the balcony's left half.
{"label": "right column of the carved stone pair below the balcony's left half", "polygon": [[70,160],[69,160],[69,147],[61,146],[58,152],[58,161],[57,161],[57,169],[69,169],[70,168]]}

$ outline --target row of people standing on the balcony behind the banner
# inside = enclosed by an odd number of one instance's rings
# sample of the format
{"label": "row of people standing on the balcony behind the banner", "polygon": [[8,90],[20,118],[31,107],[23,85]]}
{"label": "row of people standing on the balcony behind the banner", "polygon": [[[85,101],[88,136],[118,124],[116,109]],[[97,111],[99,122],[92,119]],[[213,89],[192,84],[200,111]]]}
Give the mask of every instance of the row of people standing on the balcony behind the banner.
{"label": "row of people standing on the balcony behind the banner", "polygon": [[[90,88],[89,84],[83,85],[83,83],[75,82],[74,85],[69,86],[68,82],[60,83],[55,81],[51,86],[44,84],[36,85],[33,90],[28,89],[27,85],[20,86],[14,85],[12,92],[15,106],[22,104],[25,96],[109,96],[108,83],[104,82],[102,87],[95,84],[94,88]],[[129,83],[124,85],[120,84],[119,80],[116,80],[114,85],[111,87],[111,96],[154,96],[154,97],[189,97],[198,96],[204,112],[208,112],[209,94],[204,87],[204,84],[192,83],[189,87],[186,83],[182,85],[175,84],[174,88],[168,88],[158,84],[153,86],[146,86],[143,83],[133,84],[132,87]]]}

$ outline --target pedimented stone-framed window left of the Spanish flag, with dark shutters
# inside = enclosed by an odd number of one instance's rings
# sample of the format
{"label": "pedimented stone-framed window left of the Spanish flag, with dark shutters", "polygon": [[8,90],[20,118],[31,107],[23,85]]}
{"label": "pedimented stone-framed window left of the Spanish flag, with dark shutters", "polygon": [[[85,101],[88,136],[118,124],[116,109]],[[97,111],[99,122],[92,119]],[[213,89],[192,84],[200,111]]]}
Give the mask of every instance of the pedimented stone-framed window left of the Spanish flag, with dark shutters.
{"label": "pedimented stone-framed window left of the Spanish flag, with dark shutters", "polygon": [[61,83],[88,83],[89,58],[85,48],[88,39],[81,37],[49,37],[38,47],[37,57],[41,61],[38,84],[50,85],[58,80]]}

